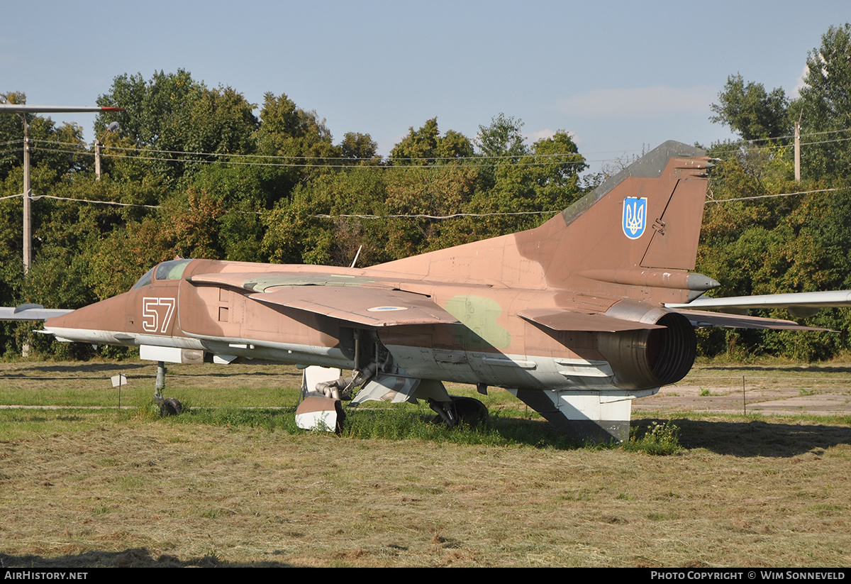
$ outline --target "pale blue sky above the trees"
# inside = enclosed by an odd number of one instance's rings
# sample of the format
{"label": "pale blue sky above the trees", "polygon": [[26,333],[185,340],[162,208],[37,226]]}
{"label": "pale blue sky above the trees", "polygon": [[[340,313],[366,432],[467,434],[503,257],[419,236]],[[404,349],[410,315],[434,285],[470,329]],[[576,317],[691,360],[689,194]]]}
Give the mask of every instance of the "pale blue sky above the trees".
{"label": "pale blue sky above the trees", "polygon": [[[183,68],[253,103],[288,94],[335,141],[368,133],[384,154],[431,117],[472,138],[504,112],[532,140],[568,130],[595,161],[729,137],[708,120],[728,75],[791,94],[851,21],[848,0],[0,5],[0,91],[31,104],[95,105],[113,77]],[[94,114],[54,120],[93,137]]]}

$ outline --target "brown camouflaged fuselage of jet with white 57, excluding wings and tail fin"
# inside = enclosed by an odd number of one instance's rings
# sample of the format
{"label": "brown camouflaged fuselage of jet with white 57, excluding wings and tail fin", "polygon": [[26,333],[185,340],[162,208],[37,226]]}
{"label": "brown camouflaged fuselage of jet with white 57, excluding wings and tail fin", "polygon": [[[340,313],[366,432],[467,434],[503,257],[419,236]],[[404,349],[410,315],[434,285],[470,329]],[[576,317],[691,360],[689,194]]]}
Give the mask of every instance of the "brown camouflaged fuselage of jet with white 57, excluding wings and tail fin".
{"label": "brown camouflaged fuselage of jet with white 57, excluding wings and tail fin", "polygon": [[[408,290],[431,297],[460,322],[358,329],[337,318],[254,301],[244,289],[193,285],[186,279],[193,273],[236,270],[300,272],[305,266],[198,260],[183,267],[180,279],[151,275],[129,292],[49,319],[45,329],[65,341],[182,350],[188,362],[199,360],[191,352],[206,352],[224,361],[261,358],[341,369],[356,369],[354,337],[360,330],[420,379],[540,389],[614,387],[614,372],[597,350],[596,333],[548,334],[517,318],[517,310],[527,306],[556,303],[551,292],[409,283]],[[322,271],[337,278],[364,275],[361,269]],[[345,295],[346,287],[340,290]],[[374,341],[365,344],[375,350]],[[361,362],[368,357],[362,353]]]}

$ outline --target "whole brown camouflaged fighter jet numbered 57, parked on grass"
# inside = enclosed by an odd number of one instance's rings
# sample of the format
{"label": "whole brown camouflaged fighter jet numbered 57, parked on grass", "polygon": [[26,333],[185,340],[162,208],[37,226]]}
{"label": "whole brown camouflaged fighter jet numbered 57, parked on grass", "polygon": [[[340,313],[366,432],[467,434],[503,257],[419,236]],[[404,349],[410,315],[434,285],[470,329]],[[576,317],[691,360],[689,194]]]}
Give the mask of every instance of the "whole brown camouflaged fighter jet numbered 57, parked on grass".
{"label": "whole brown camouflaged fighter jet numbered 57, parked on grass", "polygon": [[632,399],[688,373],[695,324],[804,328],[665,307],[718,285],[689,273],[711,166],[665,142],[537,228],[363,269],[166,261],[44,329],[157,361],[350,369],[303,403],[317,411],[422,398],[452,424],[483,406],[443,381],[500,386],[577,438],[620,440]]}

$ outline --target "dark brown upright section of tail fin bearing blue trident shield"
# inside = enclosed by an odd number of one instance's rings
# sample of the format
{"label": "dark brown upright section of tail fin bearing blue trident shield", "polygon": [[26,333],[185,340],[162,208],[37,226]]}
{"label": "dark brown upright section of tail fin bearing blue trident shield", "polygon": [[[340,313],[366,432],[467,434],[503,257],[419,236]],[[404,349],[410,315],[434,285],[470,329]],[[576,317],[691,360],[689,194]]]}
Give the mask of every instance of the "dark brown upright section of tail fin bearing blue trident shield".
{"label": "dark brown upright section of tail fin bearing blue trident shield", "polygon": [[[545,285],[596,288],[582,280],[665,289],[710,289],[694,269],[706,193],[705,152],[668,141],[528,232],[521,255],[546,262]],[[543,236],[543,237],[542,237]],[[541,239],[548,258],[540,257]]]}

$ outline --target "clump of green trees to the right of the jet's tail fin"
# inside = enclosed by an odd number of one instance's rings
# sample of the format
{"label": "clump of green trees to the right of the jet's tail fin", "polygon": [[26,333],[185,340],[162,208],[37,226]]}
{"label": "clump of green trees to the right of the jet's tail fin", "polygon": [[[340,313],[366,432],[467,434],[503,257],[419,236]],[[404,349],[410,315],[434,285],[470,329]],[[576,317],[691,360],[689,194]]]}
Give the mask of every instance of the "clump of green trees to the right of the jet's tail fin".
{"label": "clump of green trees to the right of the jet's tail fin", "polygon": [[[851,25],[831,26],[820,47],[808,54],[800,98],[788,102],[780,89],[728,78],[713,121],[725,123],[746,139],[785,135],[802,120],[802,184],[792,180],[791,147],[751,149],[713,145],[720,157],[711,174],[711,196],[750,198],[708,204],[697,270],[716,278],[713,295],[775,294],[851,287],[848,182],[851,177]],[[782,123],[779,123],[782,122]],[[823,133],[823,134],[821,134]],[[834,187],[831,193],[765,198],[764,195]],[[785,311],[763,316],[788,318]],[[847,331],[851,310],[822,310],[804,321]],[[776,331],[702,331],[701,350],[740,354],[770,352],[794,358],[829,358],[851,348],[848,333],[800,335]]]}

